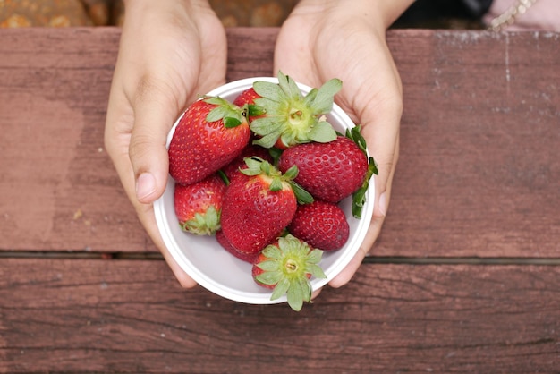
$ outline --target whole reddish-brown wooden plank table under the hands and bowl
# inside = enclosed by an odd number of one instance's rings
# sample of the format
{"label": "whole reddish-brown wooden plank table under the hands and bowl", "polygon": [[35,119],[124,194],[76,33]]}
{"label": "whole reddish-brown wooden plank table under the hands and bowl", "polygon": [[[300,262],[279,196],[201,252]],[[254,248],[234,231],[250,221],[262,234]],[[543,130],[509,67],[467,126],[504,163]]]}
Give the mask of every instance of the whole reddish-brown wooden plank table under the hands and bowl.
{"label": "whole reddish-brown wooden plank table under the hands and bowl", "polygon": [[[269,75],[276,32],[228,30],[228,80]],[[0,372],[560,370],[559,34],[388,33],[386,225],[300,313],[175,281],[104,149],[119,36],[0,30]]]}

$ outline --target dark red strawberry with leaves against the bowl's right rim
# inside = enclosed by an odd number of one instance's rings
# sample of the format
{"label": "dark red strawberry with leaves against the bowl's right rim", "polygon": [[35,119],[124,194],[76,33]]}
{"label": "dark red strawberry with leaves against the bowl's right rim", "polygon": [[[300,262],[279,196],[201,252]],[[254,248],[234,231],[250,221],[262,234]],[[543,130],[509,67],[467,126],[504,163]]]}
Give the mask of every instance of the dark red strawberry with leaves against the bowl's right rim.
{"label": "dark red strawberry with leaves against the bowl's right rim", "polygon": [[327,143],[311,142],[285,149],[278,161],[281,172],[297,166],[294,182],[318,200],[339,202],[353,194],[352,214],[361,217],[361,207],[372,174],[377,166],[367,156],[360,128],[354,127],[346,136],[338,135]]}

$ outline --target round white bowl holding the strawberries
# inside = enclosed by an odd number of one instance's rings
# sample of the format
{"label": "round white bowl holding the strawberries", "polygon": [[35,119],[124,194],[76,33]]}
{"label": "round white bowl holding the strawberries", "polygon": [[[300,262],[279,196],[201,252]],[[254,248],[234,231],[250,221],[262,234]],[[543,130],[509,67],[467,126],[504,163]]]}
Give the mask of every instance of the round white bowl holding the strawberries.
{"label": "round white bowl holding the strawberries", "polygon": [[[219,96],[230,102],[243,90],[252,87],[254,81],[271,81],[277,83],[276,78],[257,77],[232,81],[217,89],[208,92],[209,96]],[[303,94],[310,91],[310,87],[298,84]],[[180,117],[181,118],[181,117]],[[179,119],[180,119],[179,118]],[[173,138],[174,123],[172,130],[167,136],[167,147]],[[327,115],[329,123],[335,130],[344,133],[347,128],[352,128],[354,123],[348,115],[334,105],[332,112]],[[348,225],[350,225],[350,236],[343,248],[337,251],[325,251],[320,266],[323,268],[326,279],[311,279],[313,290],[326,285],[338,275],[359,250],[361,242],[368,231],[375,196],[375,184],[373,179],[369,182],[366,193],[366,204],[361,213],[361,219],[352,217],[352,197],[341,201],[340,206],[346,213]],[[214,236],[197,236],[182,231],[174,212],[174,180],[171,176],[167,178],[167,186],[164,194],[154,203],[157,226],[165,242],[165,246],[179,266],[194,279],[199,285],[207,288],[226,299],[235,302],[246,302],[250,304],[272,304],[285,302],[285,296],[274,301],[270,300],[271,291],[257,285],[251,276],[251,265],[241,259],[236,259],[232,254],[225,251],[216,241]]]}

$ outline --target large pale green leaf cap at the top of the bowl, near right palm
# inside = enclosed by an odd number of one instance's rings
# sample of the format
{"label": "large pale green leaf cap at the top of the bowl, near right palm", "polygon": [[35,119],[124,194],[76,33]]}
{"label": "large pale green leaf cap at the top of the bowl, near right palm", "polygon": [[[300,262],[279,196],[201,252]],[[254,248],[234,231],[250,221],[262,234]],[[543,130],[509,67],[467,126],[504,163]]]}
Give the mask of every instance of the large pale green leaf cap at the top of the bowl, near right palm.
{"label": "large pale green leaf cap at the top of the bowl, near right palm", "polygon": [[271,148],[281,140],[285,147],[291,147],[336,139],[336,132],[324,115],[332,110],[335,94],[342,89],[339,79],[327,81],[303,96],[293,79],[278,72],[278,83],[255,81],[253,89],[260,97],[255,104],[266,110],[266,115],[250,123],[251,131],[260,137],[255,144]]}

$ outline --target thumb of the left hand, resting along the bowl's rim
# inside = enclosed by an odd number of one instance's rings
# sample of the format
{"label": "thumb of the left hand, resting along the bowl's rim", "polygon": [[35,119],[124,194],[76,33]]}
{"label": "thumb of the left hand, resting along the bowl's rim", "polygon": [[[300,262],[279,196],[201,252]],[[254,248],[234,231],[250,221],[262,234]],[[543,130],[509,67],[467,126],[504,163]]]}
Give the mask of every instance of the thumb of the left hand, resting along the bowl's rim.
{"label": "thumb of the left hand, resting along the bowl's rim", "polygon": [[136,181],[136,198],[143,204],[165,191],[169,159],[165,143],[180,108],[177,100],[153,84],[140,85],[134,108],[129,157]]}

